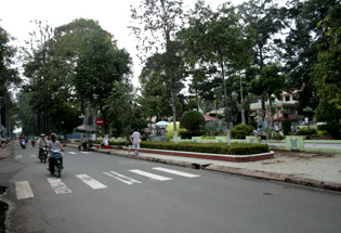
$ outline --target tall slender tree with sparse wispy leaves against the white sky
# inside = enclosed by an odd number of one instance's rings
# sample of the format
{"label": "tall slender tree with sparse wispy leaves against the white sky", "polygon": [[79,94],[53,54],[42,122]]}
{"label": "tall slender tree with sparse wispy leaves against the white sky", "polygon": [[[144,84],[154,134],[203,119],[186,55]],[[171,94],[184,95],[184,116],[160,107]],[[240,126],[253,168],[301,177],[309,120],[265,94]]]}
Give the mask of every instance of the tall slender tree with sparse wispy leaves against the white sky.
{"label": "tall slender tree with sparse wispy leaves against the white sky", "polygon": [[139,25],[132,30],[140,40],[140,47],[148,55],[155,52],[165,53],[166,80],[172,99],[174,140],[178,143],[176,95],[179,82],[184,78],[180,62],[175,33],[182,22],[182,0],[143,0],[137,8],[132,8],[132,18]]}

